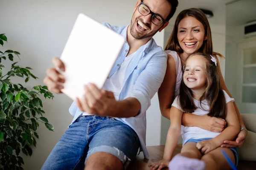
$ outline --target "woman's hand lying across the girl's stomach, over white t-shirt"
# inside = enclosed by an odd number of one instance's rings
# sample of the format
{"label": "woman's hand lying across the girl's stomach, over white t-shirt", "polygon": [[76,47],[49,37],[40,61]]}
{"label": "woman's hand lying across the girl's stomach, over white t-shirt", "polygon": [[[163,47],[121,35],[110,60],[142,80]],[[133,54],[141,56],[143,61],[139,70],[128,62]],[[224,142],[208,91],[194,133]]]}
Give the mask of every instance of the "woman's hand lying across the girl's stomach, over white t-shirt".
{"label": "woman's hand lying across the girl's stomach, over white t-shirt", "polygon": [[202,123],[201,128],[218,133],[222,132],[227,124],[224,119],[210,117],[208,115],[204,115],[204,121]]}

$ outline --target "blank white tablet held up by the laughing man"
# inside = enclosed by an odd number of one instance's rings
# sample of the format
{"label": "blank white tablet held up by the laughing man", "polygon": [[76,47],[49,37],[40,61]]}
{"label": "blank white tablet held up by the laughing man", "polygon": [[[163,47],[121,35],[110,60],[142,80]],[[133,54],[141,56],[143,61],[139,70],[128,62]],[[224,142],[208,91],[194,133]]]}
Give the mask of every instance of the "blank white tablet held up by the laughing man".
{"label": "blank white tablet held up by the laughing man", "polygon": [[61,54],[65,65],[62,92],[75,100],[81,99],[89,82],[102,88],[124,42],[110,28],[79,14]]}

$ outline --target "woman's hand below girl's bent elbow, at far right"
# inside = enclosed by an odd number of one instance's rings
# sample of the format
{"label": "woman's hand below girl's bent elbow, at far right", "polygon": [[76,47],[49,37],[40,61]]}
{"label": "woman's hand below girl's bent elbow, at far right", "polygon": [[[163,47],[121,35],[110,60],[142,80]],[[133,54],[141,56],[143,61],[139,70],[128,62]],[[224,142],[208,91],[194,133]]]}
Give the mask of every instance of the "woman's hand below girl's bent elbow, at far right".
{"label": "woman's hand below girl's bent elbow, at far right", "polygon": [[241,147],[244,144],[246,137],[247,131],[241,130],[238,133],[236,141],[224,141],[224,144],[221,144],[221,147]]}

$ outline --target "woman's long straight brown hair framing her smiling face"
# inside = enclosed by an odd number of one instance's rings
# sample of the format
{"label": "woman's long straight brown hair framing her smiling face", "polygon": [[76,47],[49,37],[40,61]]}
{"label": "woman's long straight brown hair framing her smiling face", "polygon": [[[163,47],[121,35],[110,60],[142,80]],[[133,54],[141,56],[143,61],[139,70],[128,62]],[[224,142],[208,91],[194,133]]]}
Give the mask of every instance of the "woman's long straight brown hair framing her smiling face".
{"label": "woman's long straight brown hair framing her smiling face", "polygon": [[198,52],[201,52],[204,54],[210,54],[210,55],[214,55],[214,56],[218,55],[220,57],[223,57],[223,55],[213,52],[213,50],[212,50],[212,32],[211,32],[209,22],[207,20],[206,15],[204,14],[204,12],[198,8],[185,9],[185,10],[181,11],[180,14],[178,14],[178,16],[175,20],[175,25],[172,30],[172,34],[169,37],[169,40],[165,47],[165,50],[176,51],[178,54],[183,53],[183,49],[180,47],[180,44],[178,42],[177,34],[178,34],[179,23],[185,17],[194,17],[200,23],[202,23],[202,25],[204,26],[205,37],[207,37],[207,40],[204,40],[204,43],[201,46],[201,48],[198,49]]}

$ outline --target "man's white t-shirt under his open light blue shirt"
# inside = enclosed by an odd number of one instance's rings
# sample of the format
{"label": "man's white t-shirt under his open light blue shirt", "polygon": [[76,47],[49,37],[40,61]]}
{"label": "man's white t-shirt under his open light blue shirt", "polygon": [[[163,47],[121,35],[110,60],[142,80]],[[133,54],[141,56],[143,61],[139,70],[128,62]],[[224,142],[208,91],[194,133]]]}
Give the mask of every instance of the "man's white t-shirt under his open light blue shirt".
{"label": "man's white t-shirt under his open light blue shirt", "polygon": [[[120,65],[120,67],[116,70],[116,72],[111,77],[109,77],[106,80],[106,82],[103,86],[103,89],[105,89],[106,91],[113,92],[116,100],[119,100],[119,94],[120,94],[120,91],[122,90],[121,88],[123,85],[123,81],[125,79],[125,71],[126,71],[128,65],[130,64],[132,57],[135,54],[136,54],[136,52],[125,57],[124,61]],[[88,116],[88,115],[92,115],[92,114],[86,113],[86,112],[84,112],[82,114],[82,116]]]}

